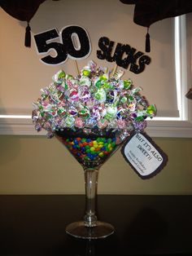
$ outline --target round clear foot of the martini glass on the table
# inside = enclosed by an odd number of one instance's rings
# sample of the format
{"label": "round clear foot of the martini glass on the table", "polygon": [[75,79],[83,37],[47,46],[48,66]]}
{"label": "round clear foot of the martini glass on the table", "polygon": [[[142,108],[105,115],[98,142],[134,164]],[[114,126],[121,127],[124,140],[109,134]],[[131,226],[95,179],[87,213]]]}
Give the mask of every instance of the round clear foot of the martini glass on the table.
{"label": "round clear foot of the martini glass on the table", "polygon": [[94,227],[86,227],[84,221],[71,223],[66,227],[68,235],[82,239],[99,239],[110,236],[115,229],[110,223],[97,221]]}

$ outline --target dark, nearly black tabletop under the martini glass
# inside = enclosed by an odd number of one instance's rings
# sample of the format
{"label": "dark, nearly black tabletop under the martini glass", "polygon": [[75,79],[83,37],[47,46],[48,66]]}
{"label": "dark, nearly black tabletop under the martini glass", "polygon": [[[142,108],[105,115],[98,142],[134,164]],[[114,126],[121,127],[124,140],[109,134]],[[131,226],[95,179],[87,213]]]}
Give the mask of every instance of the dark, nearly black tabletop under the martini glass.
{"label": "dark, nearly black tabletop under the martini glass", "polygon": [[99,195],[97,215],[116,227],[105,239],[65,233],[85,196],[0,196],[0,255],[191,255],[192,196]]}

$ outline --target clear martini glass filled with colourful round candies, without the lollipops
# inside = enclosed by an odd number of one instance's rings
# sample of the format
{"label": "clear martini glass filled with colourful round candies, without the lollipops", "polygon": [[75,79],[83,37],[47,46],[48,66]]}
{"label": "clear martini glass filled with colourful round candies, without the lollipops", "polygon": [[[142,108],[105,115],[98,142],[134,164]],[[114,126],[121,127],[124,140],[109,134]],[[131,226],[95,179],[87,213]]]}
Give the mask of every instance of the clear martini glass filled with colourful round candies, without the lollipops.
{"label": "clear martini glass filled with colourful round candies, without the lollipops", "polygon": [[73,135],[62,131],[56,132],[56,138],[81,164],[85,174],[85,216],[83,220],[69,224],[66,232],[84,239],[98,239],[111,235],[114,227],[110,223],[98,221],[95,213],[98,171],[120,148],[124,139],[117,132],[109,132],[106,135]]}

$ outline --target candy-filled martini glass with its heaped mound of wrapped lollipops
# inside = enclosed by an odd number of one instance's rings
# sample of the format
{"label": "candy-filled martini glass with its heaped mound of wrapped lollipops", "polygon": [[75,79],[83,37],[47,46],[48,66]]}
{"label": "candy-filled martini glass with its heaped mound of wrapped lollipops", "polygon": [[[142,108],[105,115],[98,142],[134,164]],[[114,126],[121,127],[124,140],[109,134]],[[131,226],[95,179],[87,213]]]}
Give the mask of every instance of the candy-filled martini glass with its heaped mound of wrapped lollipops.
{"label": "candy-filled martini glass with its heaped mound of wrapped lollipops", "polygon": [[33,104],[35,129],[59,139],[85,170],[85,217],[68,225],[72,236],[92,239],[114,232],[95,215],[98,170],[131,132],[144,130],[146,118],[155,116],[155,105],[140,95],[141,88],[121,79],[123,74],[111,74],[94,61],[76,77],[60,70]]}

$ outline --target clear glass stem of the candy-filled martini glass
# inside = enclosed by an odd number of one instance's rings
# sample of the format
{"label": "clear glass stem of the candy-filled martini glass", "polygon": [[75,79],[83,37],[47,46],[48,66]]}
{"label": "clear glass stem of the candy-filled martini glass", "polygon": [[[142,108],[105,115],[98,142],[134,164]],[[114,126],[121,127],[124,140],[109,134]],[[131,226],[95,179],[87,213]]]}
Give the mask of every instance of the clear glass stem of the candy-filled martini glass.
{"label": "clear glass stem of the candy-filled martini glass", "polygon": [[84,168],[85,171],[85,216],[86,227],[95,227],[97,225],[97,216],[95,214],[96,197],[98,190],[98,169]]}

